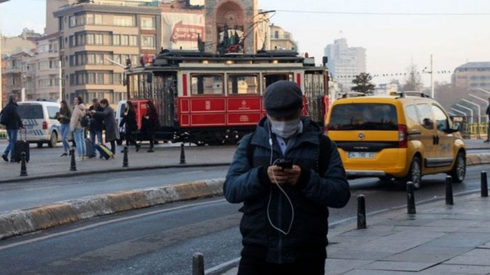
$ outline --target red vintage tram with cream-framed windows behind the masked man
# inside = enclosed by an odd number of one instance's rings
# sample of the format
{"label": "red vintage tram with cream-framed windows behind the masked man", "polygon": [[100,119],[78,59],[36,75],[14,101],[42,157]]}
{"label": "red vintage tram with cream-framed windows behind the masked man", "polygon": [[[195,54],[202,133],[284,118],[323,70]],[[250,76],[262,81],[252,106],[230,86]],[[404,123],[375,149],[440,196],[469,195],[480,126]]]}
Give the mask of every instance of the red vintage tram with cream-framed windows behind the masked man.
{"label": "red vintage tram with cream-framed windows behind the masked man", "polygon": [[[236,143],[265,116],[262,95],[274,81],[295,81],[304,116],[323,125],[329,104],[328,71],[290,51],[207,54],[163,50],[153,63],[126,70],[128,98],[154,100],[156,138],[198,145]],[[141,111],[141,110],[140,110]]]}

